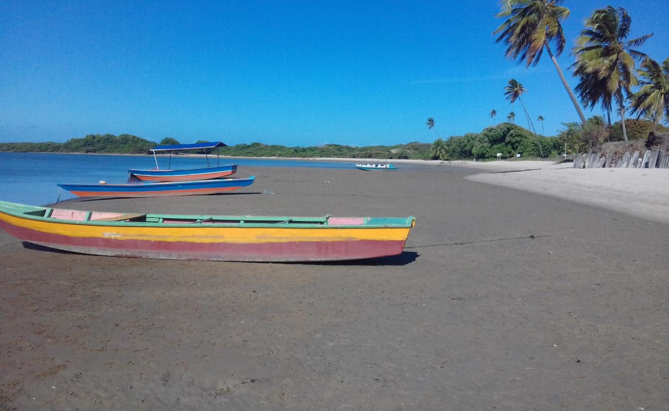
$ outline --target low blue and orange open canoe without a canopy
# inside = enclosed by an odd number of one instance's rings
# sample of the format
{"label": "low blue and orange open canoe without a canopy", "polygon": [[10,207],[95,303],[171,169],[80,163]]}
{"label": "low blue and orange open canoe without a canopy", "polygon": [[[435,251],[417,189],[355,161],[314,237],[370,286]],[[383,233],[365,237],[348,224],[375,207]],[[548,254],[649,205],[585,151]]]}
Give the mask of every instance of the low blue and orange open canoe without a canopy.
{"label": "low blue and orange open canoe without a canopy", "polygon": [[250,186],[248,178],[215,178],[181,182],[145,182],[136,184],[58,184],[60,188],[80,197],[159,197],[216,194]]}

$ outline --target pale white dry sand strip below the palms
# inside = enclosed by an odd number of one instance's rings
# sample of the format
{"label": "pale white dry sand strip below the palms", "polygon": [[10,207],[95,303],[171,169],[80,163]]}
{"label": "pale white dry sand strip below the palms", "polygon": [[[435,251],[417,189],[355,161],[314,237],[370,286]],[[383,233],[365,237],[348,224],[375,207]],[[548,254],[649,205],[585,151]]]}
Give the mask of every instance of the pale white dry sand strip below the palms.
{"label": "pale white dry sand strip below the palms", "polygon": [[[571,164],[541,161],[489,162],[476,166],[490,171],[467,176],[467,180],[546,194],[669,223],[669,170],[666,169],[575,170]],[[539,170],[533,170],[537,168]]]}

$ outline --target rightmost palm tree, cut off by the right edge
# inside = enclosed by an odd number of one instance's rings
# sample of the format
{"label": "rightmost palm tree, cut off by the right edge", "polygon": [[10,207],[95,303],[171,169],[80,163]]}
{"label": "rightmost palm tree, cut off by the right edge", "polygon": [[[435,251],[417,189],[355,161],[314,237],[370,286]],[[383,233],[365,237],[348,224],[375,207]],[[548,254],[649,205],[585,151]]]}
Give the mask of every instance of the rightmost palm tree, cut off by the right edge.
{"label": "rightmost palm tree, cut off by the right edge", "polygon": [[669,58],[661,66],[647,59],[638,73],[641,89],[632,96],[632,114],[653,118],[656,131],[659,122],[669,122]]}

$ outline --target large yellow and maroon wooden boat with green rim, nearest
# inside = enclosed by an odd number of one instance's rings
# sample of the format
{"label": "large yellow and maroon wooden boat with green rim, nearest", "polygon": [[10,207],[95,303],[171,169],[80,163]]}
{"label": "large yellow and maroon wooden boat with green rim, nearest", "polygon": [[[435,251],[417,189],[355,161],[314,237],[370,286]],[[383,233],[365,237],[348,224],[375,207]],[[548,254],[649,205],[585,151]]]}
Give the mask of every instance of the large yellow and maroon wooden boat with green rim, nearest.
{"label": "large yellow and maroon wooden boat with green rim, nearest", "polygon": [[17,239],[76,253],[211,261],[334,261],[398,255],[414,217],[99,213],[0,201]]}

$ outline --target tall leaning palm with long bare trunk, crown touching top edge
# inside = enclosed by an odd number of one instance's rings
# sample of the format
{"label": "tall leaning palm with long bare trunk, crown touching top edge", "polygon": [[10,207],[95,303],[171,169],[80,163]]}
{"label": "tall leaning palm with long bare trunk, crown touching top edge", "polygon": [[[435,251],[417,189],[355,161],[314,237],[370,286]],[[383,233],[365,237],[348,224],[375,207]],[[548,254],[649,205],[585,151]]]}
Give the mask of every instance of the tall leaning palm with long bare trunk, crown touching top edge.
{"label": "tall leaning palm with long bare trunk, crown touching top edge", "polygon": [[[569,17],[569,9],[561,7],[563,0],[504,0],[502,11],[496,17],[505,18],[506,21],[497,27],[493,34],[499,34],[495,43],[503,41],[506,43],[506,57],[515,59],[520,63],[524,61],[527,66],[537,65],[544,49],[551,56],[555,70],[560,76],[565,90],[571,98],[574,108],[585,124],[585,115],[569,88],[565,74],[557,63],[555,55],[561,55],[565,49],[565,33],[562,30],[561,21]],[[551,50],[550,43],[555,45],[555,55]]]}

